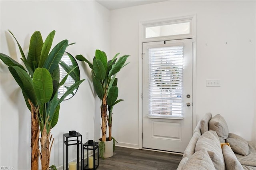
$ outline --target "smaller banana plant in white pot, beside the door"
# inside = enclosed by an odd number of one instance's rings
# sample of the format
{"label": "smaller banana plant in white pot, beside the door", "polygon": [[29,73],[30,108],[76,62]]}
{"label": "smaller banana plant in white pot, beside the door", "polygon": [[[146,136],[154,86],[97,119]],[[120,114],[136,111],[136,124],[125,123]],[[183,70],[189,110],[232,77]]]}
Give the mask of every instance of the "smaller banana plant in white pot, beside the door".
{"label": "smaller banana plant in white pot, beside the door", "polygon": [[[108,158],[113,156],[115,138],[112,136],[112,110],[114,105],[123,101],[118,98],[118,87],[116,74],[128,63],[126,59],[129,55],[123,55],[117,59],[117,53],[113,59],[108,61],[108,57],[104,51],[96,49],[95,57],[92,61],[88,61],[83,55],[76,55],[76,59],[85,61],[92,69],[92,83],[96,94],[100,99],[100,115],[102,119],[101,130],[102,138],[100,138],[100,157]],[[107,113],[108,111],[108,113]],[[107,137],[108,127],[108,137]]]}

